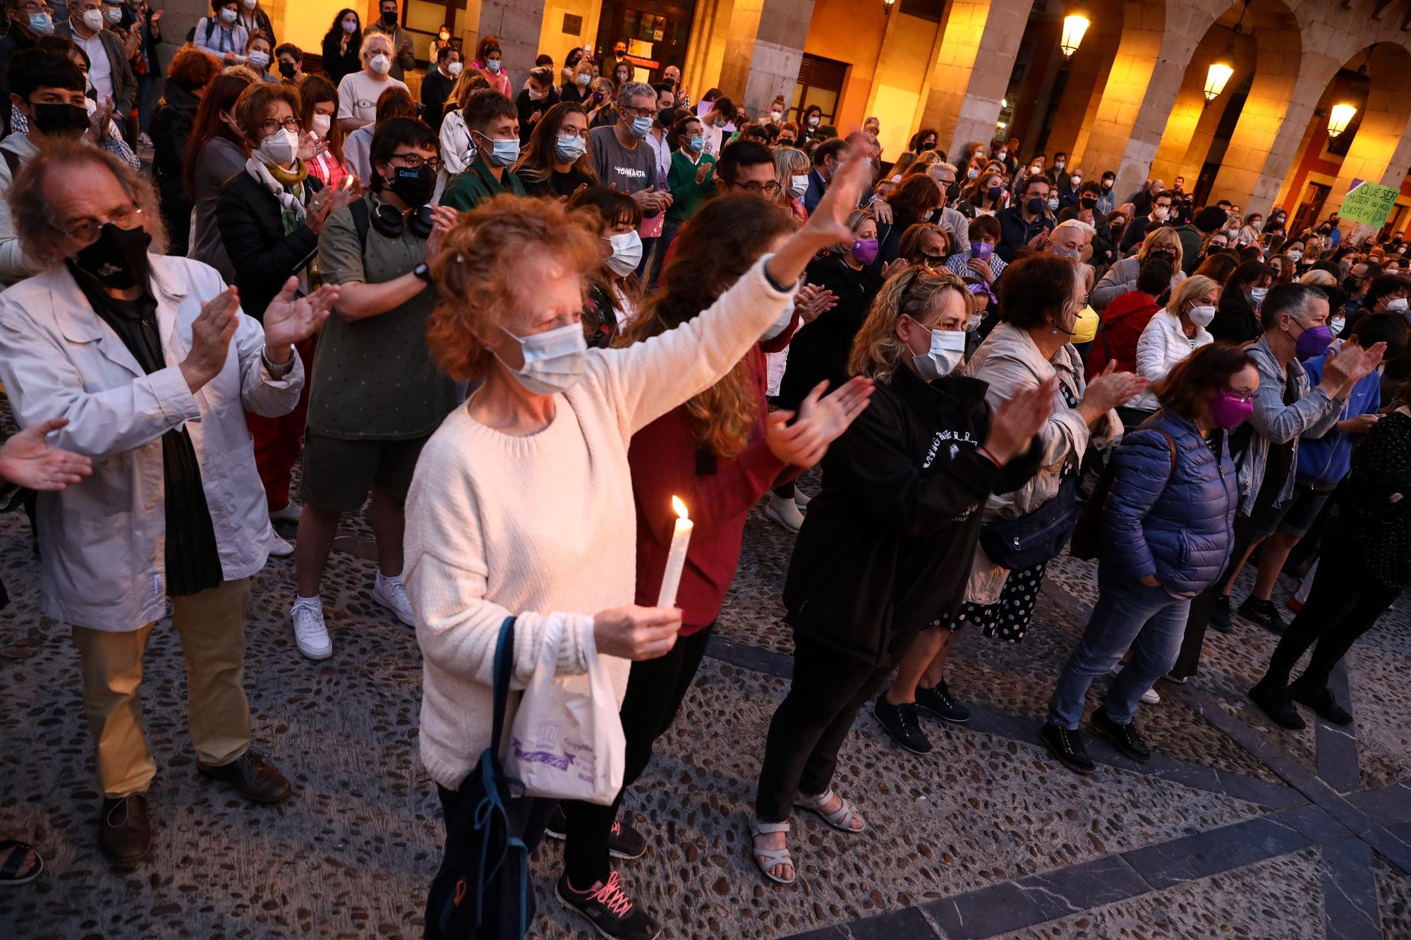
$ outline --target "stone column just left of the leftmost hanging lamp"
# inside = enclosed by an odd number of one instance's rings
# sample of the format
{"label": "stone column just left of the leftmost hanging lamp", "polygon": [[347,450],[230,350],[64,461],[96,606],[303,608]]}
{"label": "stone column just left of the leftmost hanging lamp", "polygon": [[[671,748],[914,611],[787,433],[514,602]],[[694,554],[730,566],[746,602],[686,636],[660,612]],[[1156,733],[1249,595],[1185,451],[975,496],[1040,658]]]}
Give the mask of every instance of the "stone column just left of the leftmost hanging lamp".
{"label": "stone column just left of the leftmost hanging lamp", "polygon": [[920,120],[937,128],[947,154],[969,140],[995,138],[999,102],[1033,6],[1034,0],[951,0]]}

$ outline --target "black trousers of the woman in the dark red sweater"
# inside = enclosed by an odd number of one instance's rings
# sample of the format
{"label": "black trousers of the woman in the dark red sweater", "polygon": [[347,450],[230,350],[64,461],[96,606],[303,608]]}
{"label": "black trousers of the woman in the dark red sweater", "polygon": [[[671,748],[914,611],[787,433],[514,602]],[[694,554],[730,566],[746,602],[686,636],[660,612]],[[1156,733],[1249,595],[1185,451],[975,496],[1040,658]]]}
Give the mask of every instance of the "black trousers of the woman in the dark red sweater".
{"label": "black trousers of the woman in the dark red sweater", "polygon": [[[711,624],[714,627],[714,624]],[[622,768],[622,789],[611,806],[564,800],[560,803],[567,821],[567,841],[563,848],[563,869],[580,891],[612,874],[608,841],[612,823],[622,807],[626,788],[642,776],[652,761],[652,744],[662,737],[686,699],[686,690],[700,669],[710,641],[711,627],[679,637],[672,652],[658,659],[632,663],[628,673],[626,696],[622,699],[622,735],[626,738],[626,758]]]}

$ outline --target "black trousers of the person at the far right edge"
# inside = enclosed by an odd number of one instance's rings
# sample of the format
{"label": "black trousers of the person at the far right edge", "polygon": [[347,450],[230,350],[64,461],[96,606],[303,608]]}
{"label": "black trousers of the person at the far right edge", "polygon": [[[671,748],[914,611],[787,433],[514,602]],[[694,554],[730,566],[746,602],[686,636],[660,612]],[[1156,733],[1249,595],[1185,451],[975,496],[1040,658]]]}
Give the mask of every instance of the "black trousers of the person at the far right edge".
{"label": "black trousers of the person at the far right edge", "polygon": [[1329,539],[1318,556],[1318,573],[1308,600],[1274,648],[1260,685],[1287,689],[1298,658],[1312,646],[1314,655],[1298,683],[1309,689],[1326,687],[1332,668],[1348,655],[1357,637],[1371,629],[1398,594],[1400,587],[1383,584],[1367,570],[1355,545]]}

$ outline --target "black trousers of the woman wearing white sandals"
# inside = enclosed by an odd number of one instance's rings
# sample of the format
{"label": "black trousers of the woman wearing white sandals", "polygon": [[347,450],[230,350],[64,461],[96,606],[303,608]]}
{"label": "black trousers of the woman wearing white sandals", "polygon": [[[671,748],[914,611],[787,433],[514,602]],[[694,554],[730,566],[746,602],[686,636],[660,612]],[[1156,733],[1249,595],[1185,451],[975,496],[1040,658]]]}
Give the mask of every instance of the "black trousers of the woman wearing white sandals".
{"label": "black trousers of the woman wearing white sandals", "polygon": [[828,789],[838,749],[858,711],[882,690],[895,665],[896,656],[872,666],[794,634],[793,683],[765,740],[765,765],[755,795],[761,820],[783,823],[794,796],[817,796]]}

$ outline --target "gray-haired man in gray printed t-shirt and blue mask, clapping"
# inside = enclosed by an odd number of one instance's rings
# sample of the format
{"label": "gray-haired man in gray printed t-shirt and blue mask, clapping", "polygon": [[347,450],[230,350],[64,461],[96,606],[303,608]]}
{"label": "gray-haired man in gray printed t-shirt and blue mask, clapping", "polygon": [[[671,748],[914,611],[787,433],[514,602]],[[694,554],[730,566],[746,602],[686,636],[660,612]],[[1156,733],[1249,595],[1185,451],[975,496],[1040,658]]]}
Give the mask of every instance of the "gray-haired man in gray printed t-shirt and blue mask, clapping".
{"label": "gray-haired man in gray printed t-shirt and blue mask, clapping", "polygon": [[[642,207],[643,230],[659,234],[662,213],[672,205],[672,193],[666,191],[666,181],[658,176],[656,152],[646,143],[658,116],[656,92],[642,82],[624,82],[617,106],[615,124],[588,131],[588,159],[598,174],[598,183],[632,196]],[[656,243],[656,237],[642,239],[638,271],[648,270]]]}

